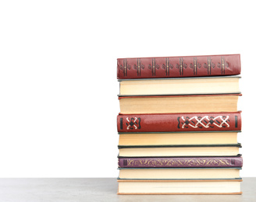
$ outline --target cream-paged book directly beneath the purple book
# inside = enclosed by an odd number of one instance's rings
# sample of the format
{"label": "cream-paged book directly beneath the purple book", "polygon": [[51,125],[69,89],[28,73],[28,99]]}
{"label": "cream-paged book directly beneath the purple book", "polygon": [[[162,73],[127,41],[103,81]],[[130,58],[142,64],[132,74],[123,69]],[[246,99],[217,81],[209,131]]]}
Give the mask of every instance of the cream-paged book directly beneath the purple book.
{"label": "cream-paged book directly beneath the purple book", "polygon": [[241,168],[119,168],[118,179],[241,179]]}

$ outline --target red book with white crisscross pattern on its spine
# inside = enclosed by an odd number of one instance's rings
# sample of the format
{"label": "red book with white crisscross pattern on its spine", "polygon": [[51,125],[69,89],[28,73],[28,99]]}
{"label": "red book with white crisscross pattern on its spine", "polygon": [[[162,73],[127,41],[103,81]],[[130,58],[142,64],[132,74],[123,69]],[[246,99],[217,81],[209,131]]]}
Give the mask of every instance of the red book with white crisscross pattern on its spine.
{"label": "red book with white crisscross pattern on its spine", "polygon": [[230,113],[119,114],[118,132],[241,131],[240,111]]}

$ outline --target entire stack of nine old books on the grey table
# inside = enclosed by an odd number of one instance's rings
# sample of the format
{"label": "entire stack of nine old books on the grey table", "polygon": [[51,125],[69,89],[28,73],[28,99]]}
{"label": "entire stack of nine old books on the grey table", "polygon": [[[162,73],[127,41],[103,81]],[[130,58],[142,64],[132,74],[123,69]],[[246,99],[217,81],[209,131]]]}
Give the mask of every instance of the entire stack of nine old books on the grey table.
{"label": "entire stack of nine old books on the grey table", "polygon": [[241,194],[240,54],[117,59],[118,194]]}

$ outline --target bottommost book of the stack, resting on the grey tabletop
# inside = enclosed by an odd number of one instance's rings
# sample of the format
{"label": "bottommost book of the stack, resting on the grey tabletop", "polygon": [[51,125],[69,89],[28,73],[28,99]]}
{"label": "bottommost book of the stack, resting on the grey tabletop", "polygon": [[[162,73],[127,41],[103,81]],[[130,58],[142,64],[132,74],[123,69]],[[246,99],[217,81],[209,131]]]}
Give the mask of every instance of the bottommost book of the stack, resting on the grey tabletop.
{"label": "bottommost book of the stack, resting on the grey tabletop", "polygon": [[118,194],[241,194],[242,179],[118,179]]}

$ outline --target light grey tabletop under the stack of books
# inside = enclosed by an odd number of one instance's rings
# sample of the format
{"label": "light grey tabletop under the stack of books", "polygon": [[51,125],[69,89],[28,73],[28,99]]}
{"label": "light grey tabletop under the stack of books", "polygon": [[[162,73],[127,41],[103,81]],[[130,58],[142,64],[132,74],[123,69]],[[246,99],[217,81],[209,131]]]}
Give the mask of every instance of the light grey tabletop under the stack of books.
{"label": "light grey tabletop under the stack of books", "polygon": [[256,201],[256,178],[243,178],[242,195],[116,195],[114,178],[3,178],[0,201]]}

